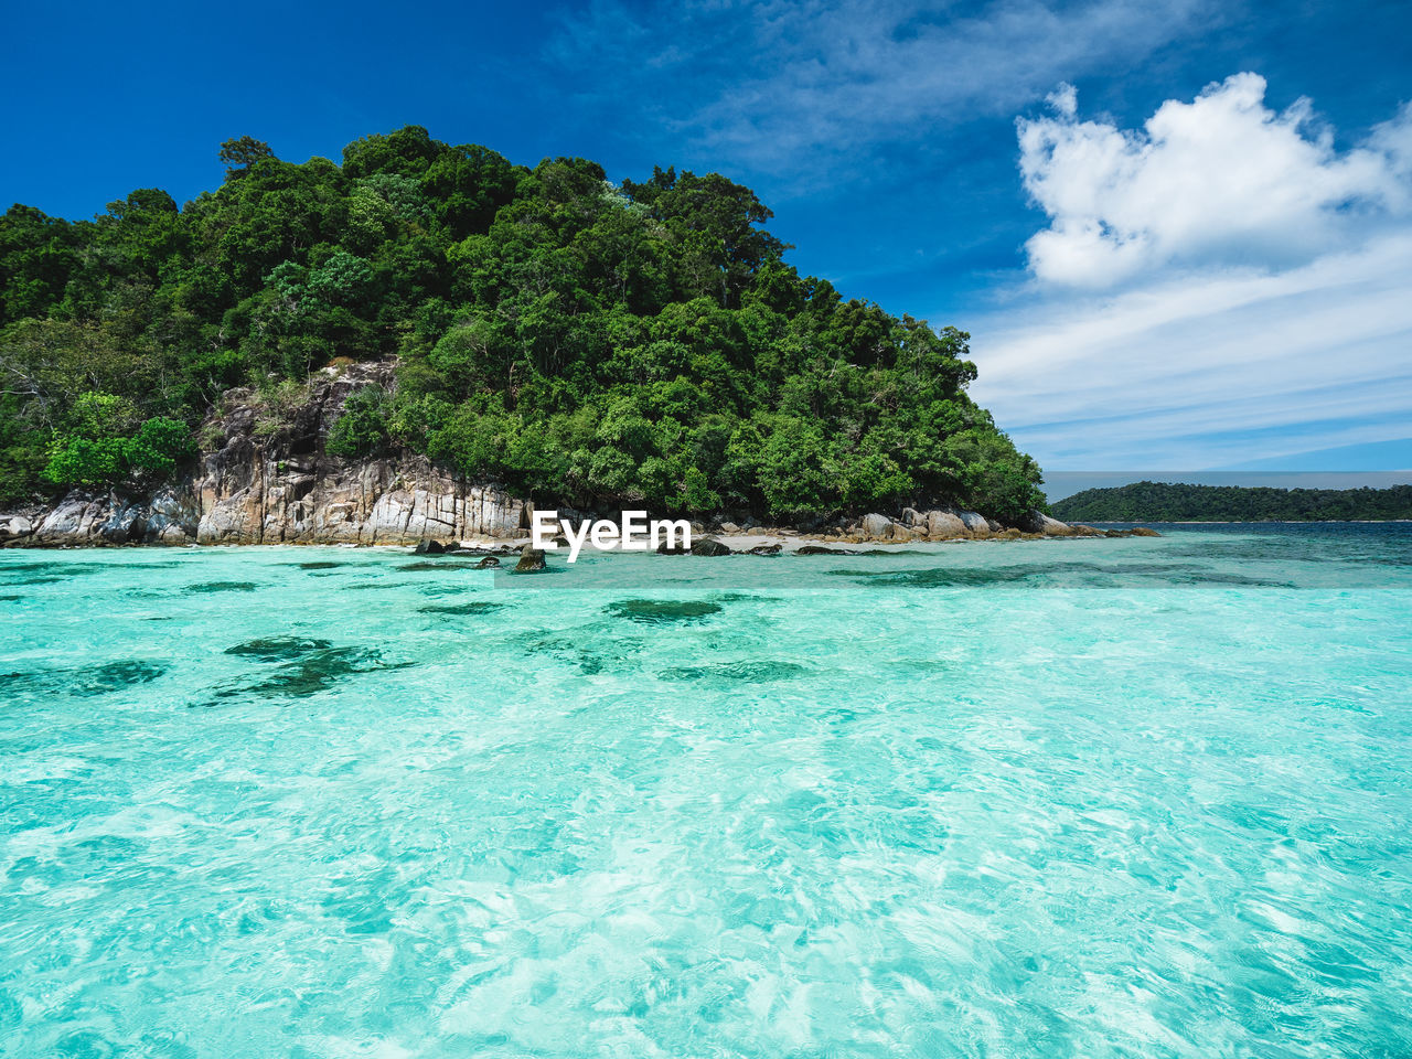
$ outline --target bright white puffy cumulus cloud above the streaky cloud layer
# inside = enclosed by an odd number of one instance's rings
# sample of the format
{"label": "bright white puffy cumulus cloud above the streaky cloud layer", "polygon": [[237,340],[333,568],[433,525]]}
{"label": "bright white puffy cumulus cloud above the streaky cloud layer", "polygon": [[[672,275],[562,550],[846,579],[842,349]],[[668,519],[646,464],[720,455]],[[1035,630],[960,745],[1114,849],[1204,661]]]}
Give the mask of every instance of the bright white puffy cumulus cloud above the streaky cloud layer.
{"label": "bright white puffy cumulus cloud above the streaky cloud layer", "polygon": [[1237,73],[1168,100],[1141,131],[1079,119],[1076,92],[1019,121],[1025,191],[1051,217],[1028,243],[1046,282],[1111,287],[1166,267],[1288,268],[1354,246],[1412,205],[1412,109],[1337,151],[1309,100],[1265,106]]}

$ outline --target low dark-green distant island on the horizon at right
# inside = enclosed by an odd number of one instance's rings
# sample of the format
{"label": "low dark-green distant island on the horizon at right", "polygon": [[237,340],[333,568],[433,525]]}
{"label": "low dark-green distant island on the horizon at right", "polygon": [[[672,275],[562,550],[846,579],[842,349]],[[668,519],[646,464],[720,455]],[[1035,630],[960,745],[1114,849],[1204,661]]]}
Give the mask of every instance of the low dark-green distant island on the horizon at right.
{"label": "low dark-green distant island on the horizon at right", "polygon": [[1135,481],[1051,504],[1066,522],[1360,522],[1412,520],[1412,486],[1272,489]]}

